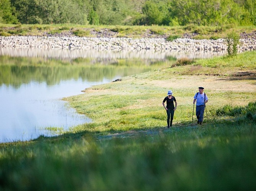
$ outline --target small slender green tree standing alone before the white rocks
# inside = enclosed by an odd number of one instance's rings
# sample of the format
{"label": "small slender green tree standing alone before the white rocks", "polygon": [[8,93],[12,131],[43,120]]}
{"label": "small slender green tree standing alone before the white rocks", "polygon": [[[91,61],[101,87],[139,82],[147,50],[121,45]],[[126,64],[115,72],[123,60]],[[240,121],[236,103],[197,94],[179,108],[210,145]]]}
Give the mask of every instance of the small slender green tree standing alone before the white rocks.
{"label": "small slender green tree standing alone before the white rocks", "polygon": [[228,56],[233,57],[237,55],[237,45],[239,44],[240,36],[235,31],[229,32],[225,37],[227,41]]}

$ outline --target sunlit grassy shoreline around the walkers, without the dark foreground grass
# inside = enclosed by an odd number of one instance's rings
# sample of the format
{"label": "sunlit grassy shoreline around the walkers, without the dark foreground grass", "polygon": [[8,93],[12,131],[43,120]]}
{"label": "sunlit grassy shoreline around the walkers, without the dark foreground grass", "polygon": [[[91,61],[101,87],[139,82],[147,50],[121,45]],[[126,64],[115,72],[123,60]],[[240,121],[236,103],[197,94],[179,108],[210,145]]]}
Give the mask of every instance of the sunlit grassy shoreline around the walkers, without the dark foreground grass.
{"label": "sunlit grassy shoreline around the walkers, without the dark foreground grass", "polygon": [[207,109],[211,119],[216,118],[215,110],[223,105],[247,105],[256,96],[254,53],[200,59],[192,65],[127,76],[122,81],[90,87],[85,94],[64,98],[78,113],[94,121],[73,131],[116,133],[163,128],[166,113],[161,102],[168,89],[172,89],[178,101],[174,116],[174,125],[178,126],[191,122],[192,97],[199,86],[205,87],[209,97]]}

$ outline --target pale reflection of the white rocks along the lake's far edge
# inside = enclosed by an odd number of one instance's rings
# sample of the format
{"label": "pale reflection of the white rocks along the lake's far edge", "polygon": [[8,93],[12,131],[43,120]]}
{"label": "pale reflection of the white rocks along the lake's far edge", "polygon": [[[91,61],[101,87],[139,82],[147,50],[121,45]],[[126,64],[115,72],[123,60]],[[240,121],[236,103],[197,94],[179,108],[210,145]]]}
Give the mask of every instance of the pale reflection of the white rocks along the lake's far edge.
{"label": "pale reflection of the white rocks along the lake's far edge", "polygon": [[1,48],[0,55],[8,55],[11,57],[42,57],[42,58],[56,58],[68,59],[75,58],[140,58],[140,59],[158,59],[163,60],[166,57],[174,58],[211,58],[222,56],[226,52],[214,51],[154,51],[154,50],[64,50],[64,49],[8,49]]}

